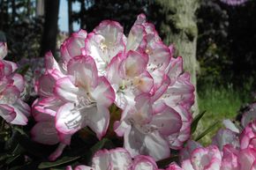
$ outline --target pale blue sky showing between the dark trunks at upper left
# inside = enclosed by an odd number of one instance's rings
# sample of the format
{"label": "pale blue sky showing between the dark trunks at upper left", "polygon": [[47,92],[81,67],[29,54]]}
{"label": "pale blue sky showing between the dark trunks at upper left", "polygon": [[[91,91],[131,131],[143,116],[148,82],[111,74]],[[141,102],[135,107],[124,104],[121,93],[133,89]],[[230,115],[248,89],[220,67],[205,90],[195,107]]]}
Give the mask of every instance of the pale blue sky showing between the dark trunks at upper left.
{"label": "pale blue sky showing between the dark trunks at upper left", "polygon": [[[79,11],[79,3],[72,4],[73,11]],[[68,32],[68,3],[67,0],[60,0],[59,14],[58,14],[58,26],[61,31]],[[79,30],[77,23],[73,24],[74,31]]]}

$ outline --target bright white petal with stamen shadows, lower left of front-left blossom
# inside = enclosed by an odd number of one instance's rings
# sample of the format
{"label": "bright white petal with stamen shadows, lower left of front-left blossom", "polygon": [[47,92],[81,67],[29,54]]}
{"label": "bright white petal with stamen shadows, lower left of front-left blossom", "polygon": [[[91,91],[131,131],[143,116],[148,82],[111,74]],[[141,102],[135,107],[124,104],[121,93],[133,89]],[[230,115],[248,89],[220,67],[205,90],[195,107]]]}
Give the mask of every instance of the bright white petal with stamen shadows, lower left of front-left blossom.
{"label": "bright white petal with stamen shadows, lower left of front-left blossom", "polygon": [[56,129],[64,134],[73,134],[85,127],[84,121],[84,115],[72,103],[64,104],[56,113]]}

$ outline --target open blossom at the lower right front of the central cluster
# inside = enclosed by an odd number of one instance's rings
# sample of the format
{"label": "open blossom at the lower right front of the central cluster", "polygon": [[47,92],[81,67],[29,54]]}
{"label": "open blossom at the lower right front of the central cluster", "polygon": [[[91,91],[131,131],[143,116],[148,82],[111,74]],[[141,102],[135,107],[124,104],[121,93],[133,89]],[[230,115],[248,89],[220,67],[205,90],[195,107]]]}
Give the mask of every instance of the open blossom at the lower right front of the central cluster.
{"label": "open blossom at the lower right front of the central cluster", "polygon": [[153,108],[151,102],[147,94],[137,96],[135,105],[124,108],[115,130],[118,136],[124,136],[124,148],[132,157],[144,154],[160,160],[169,157],[167,137],[180,129],[181,120],[171,107]]}

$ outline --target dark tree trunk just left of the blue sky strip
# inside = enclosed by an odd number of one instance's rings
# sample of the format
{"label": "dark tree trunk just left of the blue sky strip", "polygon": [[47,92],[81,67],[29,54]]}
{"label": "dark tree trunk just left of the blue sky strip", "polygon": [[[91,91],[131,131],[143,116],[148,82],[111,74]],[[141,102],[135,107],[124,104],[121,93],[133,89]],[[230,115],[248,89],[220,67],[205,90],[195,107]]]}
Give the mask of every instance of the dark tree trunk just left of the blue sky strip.
{"label": "dark tree trunk just left of the blue sky strip", "polygon": [[56,34],[59,0],[45,0],[45,21],[43,35],[41,38],[41,53],[45,55],[49,50],[55,54],[56,51]]}

